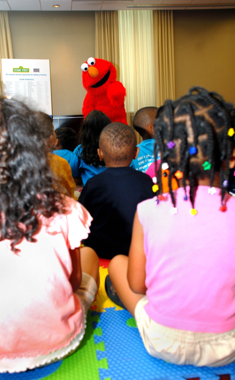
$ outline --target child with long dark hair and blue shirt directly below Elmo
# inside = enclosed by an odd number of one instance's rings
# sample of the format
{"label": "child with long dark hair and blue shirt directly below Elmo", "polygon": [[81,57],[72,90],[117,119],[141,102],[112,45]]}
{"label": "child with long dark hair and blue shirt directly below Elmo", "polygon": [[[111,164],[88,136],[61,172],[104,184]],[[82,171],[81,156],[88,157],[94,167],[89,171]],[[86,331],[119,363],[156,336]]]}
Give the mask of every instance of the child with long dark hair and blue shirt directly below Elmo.
{"label": "child with long dark hair and blue shirt directly below Elmo", "polygon": [[87,179],[106,170],[105,163],[100,161],[97,149],[99,147],[100,132],[110,123],[110,119],[103,112],[94,109],[83,120],[81,144],[74,152],[78,162],[78,176],[82,177],[83,185]]}

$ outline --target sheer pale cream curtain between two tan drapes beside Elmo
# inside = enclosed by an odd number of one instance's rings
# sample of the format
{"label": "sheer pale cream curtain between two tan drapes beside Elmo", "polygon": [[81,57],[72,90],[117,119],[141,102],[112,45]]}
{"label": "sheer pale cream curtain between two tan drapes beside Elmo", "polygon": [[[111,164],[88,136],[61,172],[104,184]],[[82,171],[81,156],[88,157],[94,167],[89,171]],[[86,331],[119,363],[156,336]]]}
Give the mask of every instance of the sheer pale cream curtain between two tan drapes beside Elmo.
{"label": "sheer pale cream curtain between two tan drapes beside Elmo", "polygon": [[[120,78],[127,90],[127,122],[153,105],[152,11],[119,11]],[[140,136],[137,136],[138,142]]]}

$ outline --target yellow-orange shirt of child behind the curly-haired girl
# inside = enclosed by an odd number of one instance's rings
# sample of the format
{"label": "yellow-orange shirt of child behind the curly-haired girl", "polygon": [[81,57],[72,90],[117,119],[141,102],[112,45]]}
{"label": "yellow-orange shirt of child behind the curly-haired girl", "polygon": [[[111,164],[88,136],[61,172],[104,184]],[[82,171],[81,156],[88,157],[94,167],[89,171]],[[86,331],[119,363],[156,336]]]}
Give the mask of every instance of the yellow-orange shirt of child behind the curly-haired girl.
{"label": "yellow-orange shirt of child behind the curly-haired girl", "polygon": [[76,184],[72,177],[72,171],[68,161],[56,154],[49,153],[48,165],[57,180],[59,192],[74,198]]}

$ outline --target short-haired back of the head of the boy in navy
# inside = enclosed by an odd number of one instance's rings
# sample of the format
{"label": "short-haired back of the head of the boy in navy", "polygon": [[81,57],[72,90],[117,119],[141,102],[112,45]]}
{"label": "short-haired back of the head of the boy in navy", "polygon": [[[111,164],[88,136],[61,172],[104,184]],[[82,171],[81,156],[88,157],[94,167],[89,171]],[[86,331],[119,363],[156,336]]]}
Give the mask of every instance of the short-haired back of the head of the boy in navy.
{"label": "short-haired back of the head of the boy in navy", "polygon": [[132,160],[136,152],[135,131],[123,123],[110,123],[100,134],[99,146],[105,158],[113,162]]}

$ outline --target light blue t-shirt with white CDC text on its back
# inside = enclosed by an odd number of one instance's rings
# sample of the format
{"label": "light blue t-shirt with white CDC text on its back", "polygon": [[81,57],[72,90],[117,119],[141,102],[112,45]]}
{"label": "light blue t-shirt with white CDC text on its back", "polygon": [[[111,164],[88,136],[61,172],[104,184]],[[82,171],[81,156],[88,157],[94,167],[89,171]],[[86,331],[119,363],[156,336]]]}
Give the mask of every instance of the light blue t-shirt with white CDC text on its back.
{"label": "light blue t-shirt with white CDC text on its back", "polygon": [[[140,148],[140,152],[137,158],[131,161],[131,168],[138,171],[143,171],[143,173],[147,171],[151,163],[154,162],[154,142],[154,139],[147,139],[137,145]],[[157,159],[159,158],[160,157]]]}

